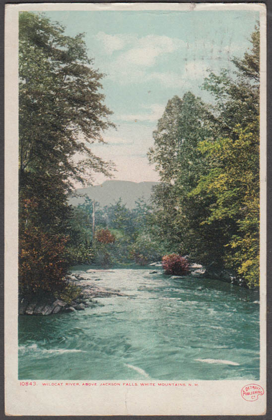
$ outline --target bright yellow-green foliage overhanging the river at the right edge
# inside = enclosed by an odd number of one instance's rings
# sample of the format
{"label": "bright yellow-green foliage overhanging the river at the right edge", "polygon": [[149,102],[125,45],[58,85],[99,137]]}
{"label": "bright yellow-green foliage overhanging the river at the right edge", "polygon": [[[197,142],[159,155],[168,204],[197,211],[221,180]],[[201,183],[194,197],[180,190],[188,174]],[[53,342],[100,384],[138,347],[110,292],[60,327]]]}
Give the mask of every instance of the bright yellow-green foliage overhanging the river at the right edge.
{"label": "bright yellow-green foliage overhanging the river at the right edge", "polygon": [[203,177],[193,194],[211,191],[216,197],[204,223],[224,218],[236,220],[237,231],[226,244],[225,260],[249,287],[254,287],[259,279],[259,137],[255,127],[236,130],[239,137],[235,140],[223,138],[200,144],[203,153],[224,162],[224,166]]}

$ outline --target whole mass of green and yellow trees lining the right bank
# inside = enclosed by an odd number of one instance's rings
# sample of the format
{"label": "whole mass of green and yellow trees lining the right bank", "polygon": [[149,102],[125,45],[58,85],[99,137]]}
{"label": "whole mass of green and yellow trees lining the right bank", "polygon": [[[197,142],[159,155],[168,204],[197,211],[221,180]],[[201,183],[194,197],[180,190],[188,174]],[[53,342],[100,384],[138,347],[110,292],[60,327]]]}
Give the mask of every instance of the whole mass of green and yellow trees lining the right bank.
{"label": "whole mass of green and yellow trees lining the right bank", "polygon": [[161,184],[153,227],[165,252],[189,254],[210,272],[230,269],[259,285],[259,27],[236,71],[210,73],[205,104],[187,92],[168,101],[148,156]]}

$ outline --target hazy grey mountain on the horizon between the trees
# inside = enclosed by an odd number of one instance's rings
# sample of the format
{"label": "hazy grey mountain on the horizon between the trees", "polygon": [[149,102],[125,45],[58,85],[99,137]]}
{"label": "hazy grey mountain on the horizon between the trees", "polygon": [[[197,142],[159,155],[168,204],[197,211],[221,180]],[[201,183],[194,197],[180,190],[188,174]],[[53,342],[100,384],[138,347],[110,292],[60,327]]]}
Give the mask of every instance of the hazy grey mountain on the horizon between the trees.
{"label": "hazy grey mountain on the horizon between the trees", "polygon": [[[76,193],[86,194],[91,200],[97,201],[101,207],[114,204],[120,198],[123,204],[126,204],[129,209],[135,207],[137,199],[142,198],[148,202],[151,189],[158,182],[131,182],[131,181],[105,181],[101,185],[92,187],[78,188]],[[77,206],[84,203],[84,197],[71,197],[69,204]]]}

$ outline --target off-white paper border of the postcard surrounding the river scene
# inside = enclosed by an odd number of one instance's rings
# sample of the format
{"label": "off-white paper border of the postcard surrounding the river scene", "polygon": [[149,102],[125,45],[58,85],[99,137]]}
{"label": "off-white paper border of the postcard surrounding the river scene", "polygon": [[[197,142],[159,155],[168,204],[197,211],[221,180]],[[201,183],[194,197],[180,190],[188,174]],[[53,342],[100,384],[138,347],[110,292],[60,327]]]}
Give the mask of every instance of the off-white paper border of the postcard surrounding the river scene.
{"label": "off-white paper border of the postcard surrounding the river scene", "polygon": [[[257,10],[261,30],[261,372],[265,395],[241,398],[245,381],[194,381],[161,388],[20,387],[17,379],[18,12],[21,10]],[[266,412],[266,6],[258,3],[39,3],[5,9],[5,410],[13,416],[261,415]],[[49,381],[50,383],[57,381]],[[61,381],[58,381],[61,382]],[[72,382],[72,381],[63,381]],[[86,381],[77,381],[82,384]],[[97,384],[103,381],[96,381]],[[116,381],[119,382],[119,381]],[[120,381],[123,383],[123,381]],[[124,381],[125,382],[125,381]],[[134,381],[134,383],[140,381]],[[153,381],[157,382],[157,381]],[[161,381],[168,382],[168,381]],[[179,381],[173,381],[179,382]],[[182,381],[184,382],[184,381]]]}

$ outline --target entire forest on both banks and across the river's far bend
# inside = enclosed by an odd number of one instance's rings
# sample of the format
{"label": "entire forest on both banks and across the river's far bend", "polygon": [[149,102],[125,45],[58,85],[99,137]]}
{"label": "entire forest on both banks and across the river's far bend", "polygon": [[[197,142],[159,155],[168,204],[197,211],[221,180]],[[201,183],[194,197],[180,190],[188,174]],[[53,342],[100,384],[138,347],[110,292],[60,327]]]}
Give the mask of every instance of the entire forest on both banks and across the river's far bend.
{"label": "entire forest on both banks and across the river's far bend", "polygon": [[129,210],[119,200],[101,209],[86,198],[72,207],[74,182],[114,171],[91,151],[114,126],[104,75],[83,34],[69,37],[43,15],[20,13],[20,294],[68,291],[73,264],[145,265],[171,254],[258,287],[258,26],[251,42],[251,51],[233,58],[234,72],[204,79],[211,104],[191,92],[169,99],[148,152],[161,180],[150,203]]}

